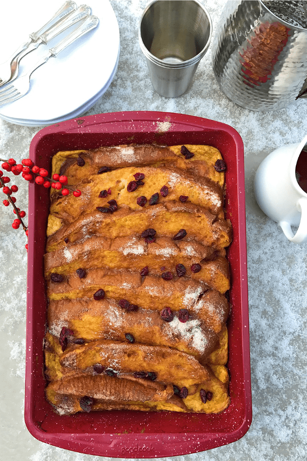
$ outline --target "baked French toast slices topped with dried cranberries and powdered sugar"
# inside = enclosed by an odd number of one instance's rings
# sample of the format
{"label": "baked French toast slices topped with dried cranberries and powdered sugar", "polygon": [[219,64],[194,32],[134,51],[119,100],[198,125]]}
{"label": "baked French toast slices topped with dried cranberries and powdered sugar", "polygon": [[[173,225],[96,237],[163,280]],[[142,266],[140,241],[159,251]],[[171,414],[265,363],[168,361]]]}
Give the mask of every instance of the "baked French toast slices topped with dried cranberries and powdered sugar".
{"label": "baked French toast slices topped with dried cranberries and powdered sugar", "polygon": [[206,145],[58,152],[45,278],[47,400],[58,414],[220,413],[229,403],[232,227]]}

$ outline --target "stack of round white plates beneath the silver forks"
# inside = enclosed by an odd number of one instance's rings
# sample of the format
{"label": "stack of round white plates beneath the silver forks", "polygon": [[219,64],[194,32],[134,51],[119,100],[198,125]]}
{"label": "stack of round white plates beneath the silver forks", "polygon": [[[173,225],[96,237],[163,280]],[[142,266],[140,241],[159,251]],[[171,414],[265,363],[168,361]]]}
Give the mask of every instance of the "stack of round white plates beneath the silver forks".
{"label": "stack of round white plates beneath the silver forks", "polygon": [[[0,16],[0,62],[28,41],[29,34],[46,24],[63,3],[63,0],[4,2]],[[39,67],[31,76],[30,91],[1,106],[0,118],[28,127],[76,118],[89,110],[111,84],[120,53],[116,15],[109,0],[82,3],[76,0],[76,3],[91,7],[92,14],[99,18],[98,27]],[[40,45],[21,59],[19,72],[26,72],[35,65],[58,40],[54,38],[47,45]]]}

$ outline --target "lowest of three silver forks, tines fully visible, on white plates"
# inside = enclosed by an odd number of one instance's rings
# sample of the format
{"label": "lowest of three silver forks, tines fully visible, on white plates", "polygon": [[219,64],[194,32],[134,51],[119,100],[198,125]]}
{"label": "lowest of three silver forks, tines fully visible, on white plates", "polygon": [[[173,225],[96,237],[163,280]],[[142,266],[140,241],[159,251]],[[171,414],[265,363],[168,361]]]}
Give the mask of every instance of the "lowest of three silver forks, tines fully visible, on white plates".
{"label": "lowest of three silver forks, tines fully visible, on white plates", "polygon": [[88,16],[84,18],[81,22],[81,25],[63,38],[58,45],[51,48],[46,56],[43,56],[38,60],[36,65],[30,69],[26,74],[18,77],[14,83],[9,83],[5,88],[0,89],[0,106],[8,104],[10,102],[16,101],[16,99],[25,96],[30,89],[30,78],[31,74],[40,66],[45,64],[51,57],[56,57],[61,51],[71,45],[77,38],[82,35],[90,32],[90,30],[95,29],[98,26],[99,19],[96,16]]}

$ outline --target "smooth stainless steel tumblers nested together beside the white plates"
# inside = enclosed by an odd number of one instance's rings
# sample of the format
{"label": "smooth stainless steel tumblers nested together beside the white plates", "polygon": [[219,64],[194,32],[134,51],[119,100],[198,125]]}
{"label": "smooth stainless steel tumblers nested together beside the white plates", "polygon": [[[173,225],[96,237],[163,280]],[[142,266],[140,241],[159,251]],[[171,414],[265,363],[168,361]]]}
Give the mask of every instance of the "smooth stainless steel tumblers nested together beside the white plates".
{"label": "smooth stainless steel tumblers nested together beside the white plates", "polygon": [[211,34],[209,13],[197,0],[154,0],[147,6],[139,42],[157,93],[175,98],[189,89]]}

